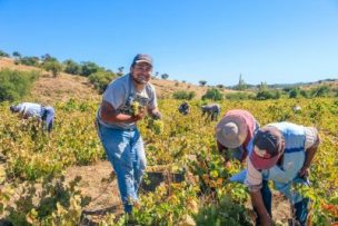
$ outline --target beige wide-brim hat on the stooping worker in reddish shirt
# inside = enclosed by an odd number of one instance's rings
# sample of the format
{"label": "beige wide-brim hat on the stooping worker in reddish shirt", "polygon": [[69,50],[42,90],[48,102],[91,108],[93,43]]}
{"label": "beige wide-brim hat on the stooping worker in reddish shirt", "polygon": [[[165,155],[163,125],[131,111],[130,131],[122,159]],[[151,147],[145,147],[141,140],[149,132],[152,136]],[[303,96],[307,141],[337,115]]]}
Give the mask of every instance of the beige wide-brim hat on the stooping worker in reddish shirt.
{"label": "beige wide-brim hat on the stooping worker in reddish shirt", "polygon": [[217,140],[227,148],[241,146],[248,135],[246,119],[240,115],[225,116],[216,126]]}

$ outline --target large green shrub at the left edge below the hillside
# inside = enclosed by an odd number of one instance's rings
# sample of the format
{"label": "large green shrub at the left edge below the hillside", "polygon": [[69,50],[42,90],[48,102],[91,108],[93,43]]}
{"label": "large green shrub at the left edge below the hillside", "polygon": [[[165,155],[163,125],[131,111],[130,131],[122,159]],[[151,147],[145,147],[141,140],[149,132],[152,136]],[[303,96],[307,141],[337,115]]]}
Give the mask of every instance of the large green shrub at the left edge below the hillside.
{"label": "large green shrub at the left edge below the hillside", "polygon": [[26,96],[39,77],[37,71],[18,71],[4,69],[0,71],[0,101],[18,100]]}

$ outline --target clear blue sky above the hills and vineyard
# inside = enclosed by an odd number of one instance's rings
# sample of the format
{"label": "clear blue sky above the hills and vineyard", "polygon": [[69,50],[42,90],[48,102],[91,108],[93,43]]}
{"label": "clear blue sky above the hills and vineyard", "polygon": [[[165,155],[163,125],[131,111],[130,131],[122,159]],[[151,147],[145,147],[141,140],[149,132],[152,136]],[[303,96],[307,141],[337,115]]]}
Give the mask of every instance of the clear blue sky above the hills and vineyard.
{"label": "clear blue sky above the hills and vineyard", "polygon": [[209,85],[338,78],[335,0],[0,0],[0,50]]}

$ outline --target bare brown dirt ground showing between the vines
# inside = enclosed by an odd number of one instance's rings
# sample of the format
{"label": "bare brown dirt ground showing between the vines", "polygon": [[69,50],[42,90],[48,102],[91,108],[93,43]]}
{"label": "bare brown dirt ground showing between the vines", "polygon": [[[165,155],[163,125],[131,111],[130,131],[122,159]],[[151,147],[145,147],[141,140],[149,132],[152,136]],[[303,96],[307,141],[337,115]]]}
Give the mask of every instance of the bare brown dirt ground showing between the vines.
{"label": "bare brown dirt ground showing between the vines", "polygon": [[[91,202],[84,208],[86,216],[99,219],[108,213],[122,214],[118,185],[109,161],[99,161],[91,166],[70,167],[66,174],[66,181],[81,176],[79,189],[82,195],[90,196]],[[288,225],[290,218],[289,202],[279,193],[272,190],[272,216],[278,225]],[[248,204],[250,206],[250,204]],[[84,224],[86,225],[86,224]]]}

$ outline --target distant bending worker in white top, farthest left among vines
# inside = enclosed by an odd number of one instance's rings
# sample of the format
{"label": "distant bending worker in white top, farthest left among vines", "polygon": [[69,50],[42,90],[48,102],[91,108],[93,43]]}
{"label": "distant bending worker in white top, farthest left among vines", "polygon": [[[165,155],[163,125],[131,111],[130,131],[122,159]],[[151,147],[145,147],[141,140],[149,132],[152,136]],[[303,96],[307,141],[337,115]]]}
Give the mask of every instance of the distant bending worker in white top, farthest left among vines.
{"label": "distant bending worker in white top, farthest left among vines", "polygon": [[34,102],[21,102],[17,106],[10,106],[10,110],[14,112],[19,112],[19,117],[27,118],[36,118],[42,125],[42,130],[47,130],[51,132],[56,116],[56,110],[50,106],[42,106]]}

